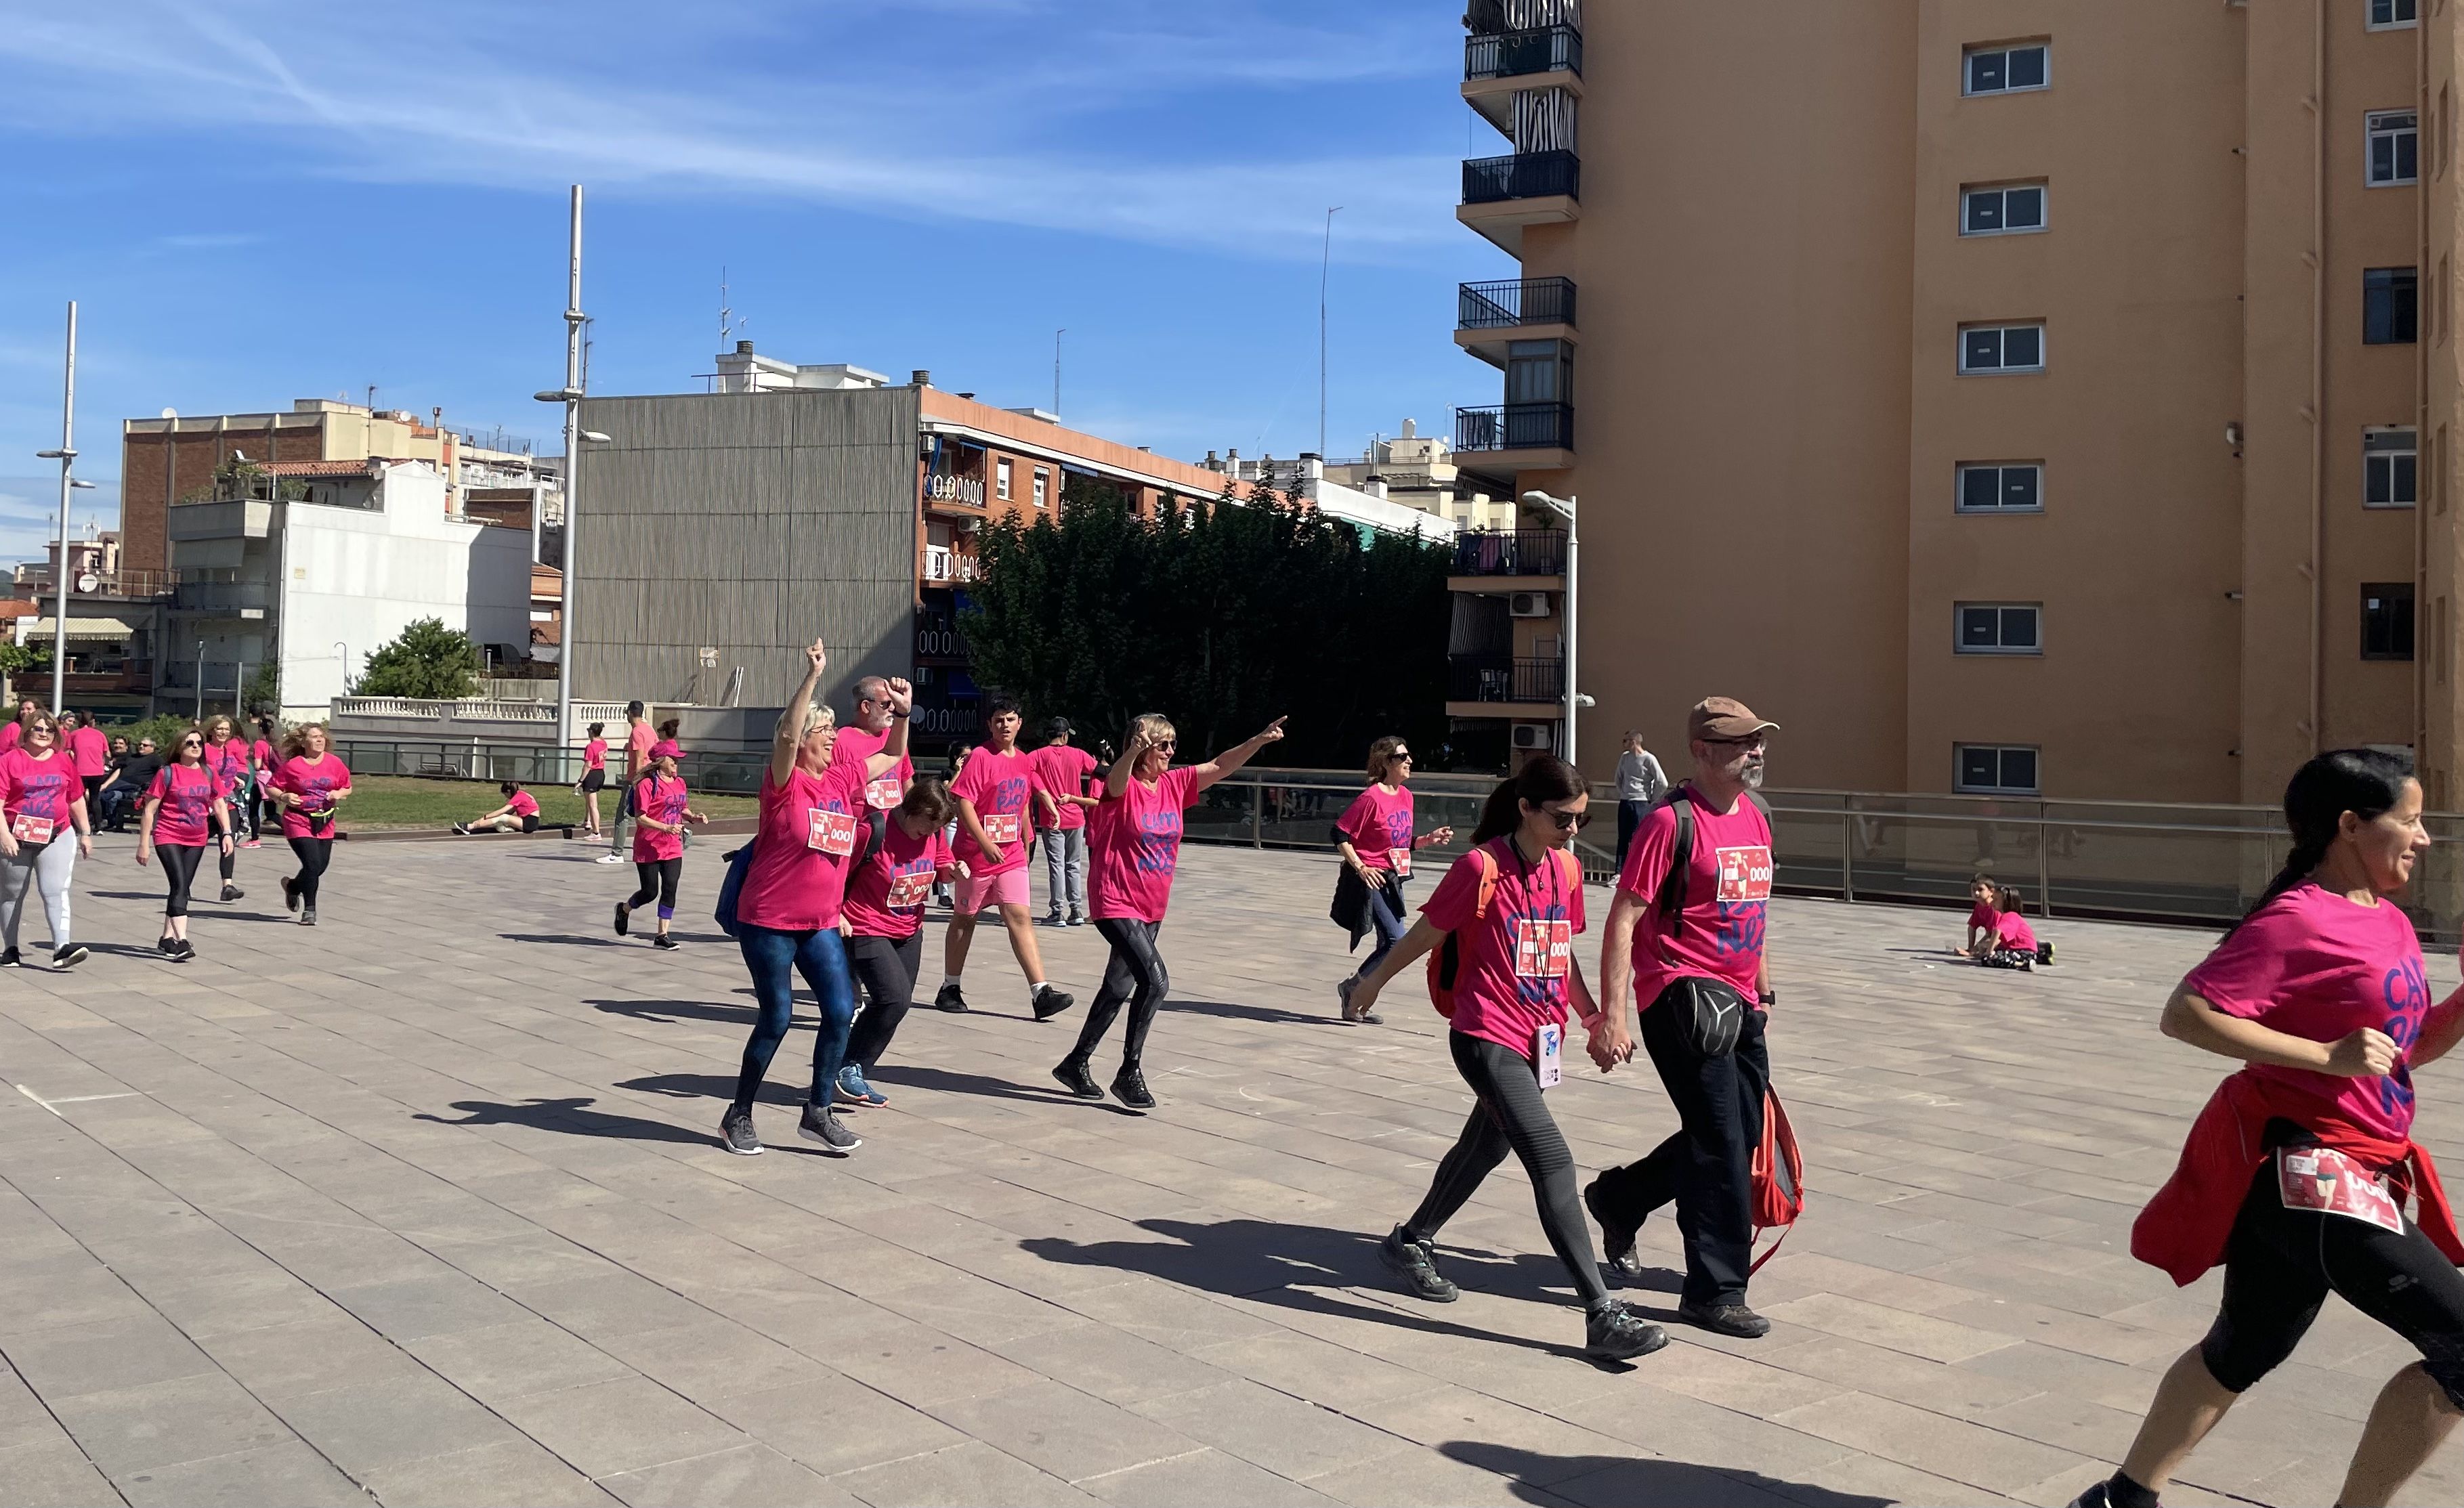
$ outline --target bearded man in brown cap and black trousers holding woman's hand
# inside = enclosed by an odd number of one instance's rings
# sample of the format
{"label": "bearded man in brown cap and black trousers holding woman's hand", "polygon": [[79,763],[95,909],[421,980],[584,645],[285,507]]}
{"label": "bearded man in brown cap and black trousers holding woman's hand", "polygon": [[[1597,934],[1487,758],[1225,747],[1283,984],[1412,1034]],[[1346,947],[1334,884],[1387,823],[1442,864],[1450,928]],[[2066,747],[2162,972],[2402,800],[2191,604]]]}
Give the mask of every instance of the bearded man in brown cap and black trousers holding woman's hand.
{"label": "bearded man in brown cap and black trousers holding woman's hand", "polygon": [[[1762,1028],[1774,1000],[1762,956],[1772,821],[1754,791],[1777,727],[1732,697],[1695,702],[1685,715],[1693,779],[1651,808],[1626,850],[1599,963],[1614,1035],[1594,1057],[1634,1055],[1626,1010],[1641,1000],[1641,1042],[1680,1129],[1582,1190],[1609,1271],[1626,1281],[1641,1276],[1634,1234],[1676,1202],[1685,1239],[1678,1316],[1740,1338],[1772,1328],[1747,1308],[1745,1281],[1754,1249],[1752,1158],[1772,1079]],[[1680,862],[1683,882],[1671,882]]]}

